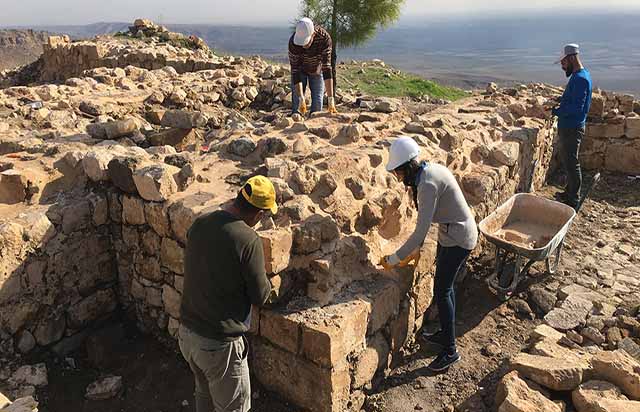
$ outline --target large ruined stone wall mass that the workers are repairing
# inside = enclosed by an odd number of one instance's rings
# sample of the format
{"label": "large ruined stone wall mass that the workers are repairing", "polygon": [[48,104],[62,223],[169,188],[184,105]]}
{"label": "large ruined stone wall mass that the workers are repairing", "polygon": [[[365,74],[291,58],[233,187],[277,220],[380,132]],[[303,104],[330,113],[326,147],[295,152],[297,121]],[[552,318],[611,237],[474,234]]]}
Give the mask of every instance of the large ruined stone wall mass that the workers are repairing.
{"label": "large ruined stone wall mass that the workers are repairing", "polygon": [[299,406],[358,411],[432,299],[435,229],[417,267],[375,264],[416,217],[384,169],[392,139],[409,134],[447,165],[478,221],[542,186],[552,159],[544,105],[558,90],[545,85],[428,107],[359,96],[342,114],[304,119],[283,115],[286,71],[259,58],[209,68],[189,57],[179,70],[161,57],[170,45],[50,43],[43,78],[57,67],[65,84],[0,90],[7,377],[21,354],[64,358],[119,312],[175,345],[190,224],[264,174],[280,211],[258,226],[273,291],[272,306],[253,312],[252,368]]}

